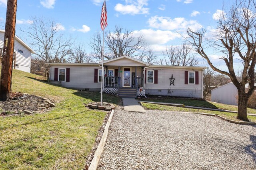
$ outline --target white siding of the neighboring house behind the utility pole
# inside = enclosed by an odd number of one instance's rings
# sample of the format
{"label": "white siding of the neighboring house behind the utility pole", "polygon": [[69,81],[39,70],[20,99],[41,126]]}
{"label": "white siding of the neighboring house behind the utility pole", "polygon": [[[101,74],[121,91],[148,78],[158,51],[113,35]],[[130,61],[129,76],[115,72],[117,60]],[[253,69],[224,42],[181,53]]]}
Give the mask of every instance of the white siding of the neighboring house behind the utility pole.
{"label": "white siding of the neighboring house behind the utility pole", "polygon": [[[17,70],[30,72],[31,51],[15,39],[14,52],[16,53]],[[0,47],[4,47],[4,32],[0,32]],[[19,53],[18,50],[23,51]]]}

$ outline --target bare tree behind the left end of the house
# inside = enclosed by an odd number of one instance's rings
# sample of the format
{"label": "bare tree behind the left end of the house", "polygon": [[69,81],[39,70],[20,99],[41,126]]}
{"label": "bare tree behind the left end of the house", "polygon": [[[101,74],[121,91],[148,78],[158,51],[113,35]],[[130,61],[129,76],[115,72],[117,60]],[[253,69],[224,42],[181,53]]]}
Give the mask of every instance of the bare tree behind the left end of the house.
{"label": "bare tree behind the left end of the house", "polygon": [[[32,18],[28,29],[22,30],[28,35],[36,56],[45,63],[65,62],[72,54],[71,38],[65,39],[60,33],[61,25],[45,18]],[[45,67],[46,76],[49,77],[49,68]]]}

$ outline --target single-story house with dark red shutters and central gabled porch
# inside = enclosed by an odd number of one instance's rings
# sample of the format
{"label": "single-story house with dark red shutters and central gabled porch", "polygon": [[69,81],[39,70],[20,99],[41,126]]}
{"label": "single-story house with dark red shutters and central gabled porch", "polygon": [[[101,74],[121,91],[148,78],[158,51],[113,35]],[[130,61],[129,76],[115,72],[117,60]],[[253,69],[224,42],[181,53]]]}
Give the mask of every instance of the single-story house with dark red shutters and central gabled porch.
{"label": "single-story house with dark red shutters and central gabled porch", "polygon": [[[46,63],[50,81],[68,88],[100,91],[101,63]],[[122,56],[104,61],[104,91],[120,97],[145,94],[202,98],[205,67],[150,65]]]}

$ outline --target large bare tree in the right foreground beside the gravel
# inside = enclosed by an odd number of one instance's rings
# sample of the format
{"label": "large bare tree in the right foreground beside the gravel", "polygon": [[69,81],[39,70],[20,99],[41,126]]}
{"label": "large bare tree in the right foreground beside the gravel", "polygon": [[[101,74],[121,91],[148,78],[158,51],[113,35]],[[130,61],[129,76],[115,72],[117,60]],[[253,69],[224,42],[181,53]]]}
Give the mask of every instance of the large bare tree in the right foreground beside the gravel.
{"label": "large bare tree in the right foreground beside the gravel", "polygon": [[[223,11],[225,9],[223,8]],[[230,77],[238,90],[238,115],[237,118],[248,121],[248,99],[256,90],[254,86],[254,69],[256,64],[256,3],[254,0],[236,0],[229,11],[223,12],[218,21],[218,33],[213,41],[204,38],[206,30],[187,30],[187,40],[192,48],[206,59],[209,66]],[[211,45],[215,50],[224,54],[222,59],[228,71],[214,66],[206,52]],[[242,80],[239,81],[234,70],[234,56],[238,55],[243,64]],[[249,83],[248,90],[245,85]]]}

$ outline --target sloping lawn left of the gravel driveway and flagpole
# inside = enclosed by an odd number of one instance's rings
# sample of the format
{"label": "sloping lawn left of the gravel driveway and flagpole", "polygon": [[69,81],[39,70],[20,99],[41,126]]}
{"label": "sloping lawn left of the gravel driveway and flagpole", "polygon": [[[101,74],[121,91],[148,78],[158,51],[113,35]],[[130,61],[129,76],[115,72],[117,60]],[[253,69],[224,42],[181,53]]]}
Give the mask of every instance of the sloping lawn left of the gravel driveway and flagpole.
{"label": "sloping lawn left of the gravel driveway and flagpole", "polygon": [[[0,117],[0,169],[84,169],[104,111],[84,104],[99,102],[99,92],[77,91],[45,82],[45,78],[14,70],[13,92],[47,97],[56,107],[46,113]],[[119,104],[119,98],[104,101]]]}

